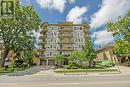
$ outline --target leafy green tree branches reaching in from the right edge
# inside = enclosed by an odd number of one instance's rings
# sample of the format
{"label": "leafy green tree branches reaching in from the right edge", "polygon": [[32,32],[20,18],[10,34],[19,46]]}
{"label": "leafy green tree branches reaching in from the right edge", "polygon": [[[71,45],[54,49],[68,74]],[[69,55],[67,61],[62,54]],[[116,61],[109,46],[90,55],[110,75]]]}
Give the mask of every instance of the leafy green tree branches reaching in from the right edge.
{"label": "leafy green tree branches reaching in from the right edge", "polygon": [[108,23],[106,27],[108,31],[113,32],[113,36],[116,38],[114,49],[117,55],[128,57],[130,54],[130,11],[125,17]]}

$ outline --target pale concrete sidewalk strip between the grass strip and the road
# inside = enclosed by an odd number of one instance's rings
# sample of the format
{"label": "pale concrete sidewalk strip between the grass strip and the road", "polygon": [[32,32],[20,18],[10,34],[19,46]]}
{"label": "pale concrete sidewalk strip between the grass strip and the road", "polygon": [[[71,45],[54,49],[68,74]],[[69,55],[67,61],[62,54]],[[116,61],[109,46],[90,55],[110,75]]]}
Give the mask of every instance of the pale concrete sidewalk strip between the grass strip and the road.
{"label": "pale concrete sidewalk strip between the grass strip and the road", "polygon": [[115,76],[115,75],[130,75],[130,67],[125,66],[115,66],[110,69],[117,69],[117,72],[88,72],[88,73],[55,73],[53,70],[40,71],[32,76],[56,76],[56,77],[64,77],[64,76]]}

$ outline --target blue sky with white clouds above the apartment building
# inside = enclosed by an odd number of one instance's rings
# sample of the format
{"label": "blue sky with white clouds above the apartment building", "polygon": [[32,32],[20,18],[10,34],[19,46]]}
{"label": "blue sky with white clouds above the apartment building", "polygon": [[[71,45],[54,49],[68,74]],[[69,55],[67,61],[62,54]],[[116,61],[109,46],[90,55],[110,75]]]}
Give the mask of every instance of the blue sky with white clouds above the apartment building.
{"label": "blue sky with white clouds above the apartment building", "polygon": [[[74,22],[90,25],[90,37],[95,48],[114,42],[112,32],[105,25],[125,16],[130,10],[130,0],[20,0],[32,5],[42,22]],[[39,36],[36,33],[36,36]]]}

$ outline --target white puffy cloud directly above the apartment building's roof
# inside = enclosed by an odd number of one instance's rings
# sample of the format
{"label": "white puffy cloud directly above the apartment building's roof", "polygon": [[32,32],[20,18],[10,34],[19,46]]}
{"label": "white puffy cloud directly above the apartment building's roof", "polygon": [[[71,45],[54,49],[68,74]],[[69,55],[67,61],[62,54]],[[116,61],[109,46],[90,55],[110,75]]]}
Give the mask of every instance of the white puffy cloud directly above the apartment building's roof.
{"label": "white puffy cloud directly above the apartment building's roof", "polygon": [[87,12],[86,7],[76,6],[72,8],[66,16],[66,21],[74,23],[82,23],[84,18],[83,15]]}

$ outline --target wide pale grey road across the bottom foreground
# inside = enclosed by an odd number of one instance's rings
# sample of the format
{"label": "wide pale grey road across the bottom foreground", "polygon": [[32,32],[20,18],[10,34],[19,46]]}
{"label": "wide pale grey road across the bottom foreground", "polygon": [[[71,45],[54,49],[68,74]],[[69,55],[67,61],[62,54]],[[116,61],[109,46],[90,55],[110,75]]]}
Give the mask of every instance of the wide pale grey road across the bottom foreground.
{"label": "wide pale grey road across the bottom foreground", "polygon": [[130,76],[0,76],[0,87],[130,87]]}

